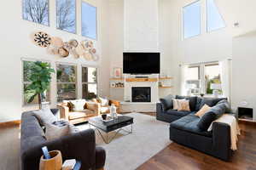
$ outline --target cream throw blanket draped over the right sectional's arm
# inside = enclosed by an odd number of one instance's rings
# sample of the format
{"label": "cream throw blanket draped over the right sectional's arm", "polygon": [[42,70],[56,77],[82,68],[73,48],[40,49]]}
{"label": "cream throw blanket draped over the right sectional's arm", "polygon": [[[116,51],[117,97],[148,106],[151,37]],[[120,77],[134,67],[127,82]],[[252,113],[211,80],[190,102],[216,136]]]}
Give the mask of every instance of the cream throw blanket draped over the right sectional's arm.
{"label": "cream throw blanket draped over the right sectional's arm", "polygon": [[[231,150],[237,150],[236,141],[238,140],[237,135],[240,135],[240,128],[238,126],[238,122],[236,121],[236,117],[230,114],[224,114],[214,122],[223,122],[230,125]],[[211,130],[212,124],[207,131]]]}

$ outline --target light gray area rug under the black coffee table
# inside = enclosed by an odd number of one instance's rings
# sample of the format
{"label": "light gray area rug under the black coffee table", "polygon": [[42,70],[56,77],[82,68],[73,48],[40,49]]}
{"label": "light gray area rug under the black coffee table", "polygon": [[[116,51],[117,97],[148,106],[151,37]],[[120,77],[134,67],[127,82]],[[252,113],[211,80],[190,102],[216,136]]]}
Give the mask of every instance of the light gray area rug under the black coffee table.
{"label": "light gray area rug under the black coffee table", "polygon": [[[134,118],[133,133],[125,135],[125,132],[121,131],[110,144],[105,144],[96,134],[96,144],[102,145],[107,152],[106,170],[134,170],[171,144],[169,123],[140,113],[126,116]],[[80,130],[87,128],[88,124],[79,126]],[[130,126],[127,127],[129,128]]]}

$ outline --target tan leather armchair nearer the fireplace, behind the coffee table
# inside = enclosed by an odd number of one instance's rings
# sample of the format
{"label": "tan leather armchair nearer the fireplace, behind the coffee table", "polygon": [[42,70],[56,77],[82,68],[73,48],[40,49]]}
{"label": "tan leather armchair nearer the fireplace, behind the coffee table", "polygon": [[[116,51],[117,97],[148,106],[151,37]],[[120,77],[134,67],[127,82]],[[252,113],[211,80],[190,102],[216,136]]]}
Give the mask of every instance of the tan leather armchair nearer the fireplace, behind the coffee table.
{"label": "tan leather armchair nearer the fireplace, behind the coffee table", "polygon": [[116,107],[117,113],[120,113],[120,102],[117,100],[109,99],[108,105],[102,105],[101,99],[92,99],[94,103],[97,103],[100,107],[100,114],[105,114],[110,112],[110,106],[113,104]]}

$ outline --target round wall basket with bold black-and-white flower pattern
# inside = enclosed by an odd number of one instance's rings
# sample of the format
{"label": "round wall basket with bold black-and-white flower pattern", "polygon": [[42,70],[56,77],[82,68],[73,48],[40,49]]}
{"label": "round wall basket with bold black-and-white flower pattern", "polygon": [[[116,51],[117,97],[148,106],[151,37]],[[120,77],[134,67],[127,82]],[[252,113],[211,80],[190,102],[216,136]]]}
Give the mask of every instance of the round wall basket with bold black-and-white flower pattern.
{"label": "round wall basket with bold black-and-white flower pattern", "polygon": [[33,41],[41,48],[47,48],[51,43],[51,37],[45,32],[39,31],[34,34]]}

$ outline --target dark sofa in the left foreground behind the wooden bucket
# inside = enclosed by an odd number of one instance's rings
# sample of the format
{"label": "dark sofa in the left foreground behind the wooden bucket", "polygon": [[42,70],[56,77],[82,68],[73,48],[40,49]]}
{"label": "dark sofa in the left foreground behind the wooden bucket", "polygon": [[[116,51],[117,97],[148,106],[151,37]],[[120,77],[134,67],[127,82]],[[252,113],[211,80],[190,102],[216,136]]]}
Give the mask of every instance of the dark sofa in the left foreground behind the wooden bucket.
{"label": "dark sofa in the left foreground behind the wooden bucket", "polygon": [[[51,110],[54,114],[57,110]],[[39,125],[32,111],[24,112],[21,116],[20,159],[21,169],[39,169],[42,156],[41,148],[47,146],[49,150],[61,150],[63,161],[77,159],[82,161],[82,170],[104,167],[105,150],[96,145],[95,132],[85,130],[69,136],[47,141],[43,128]]]}

